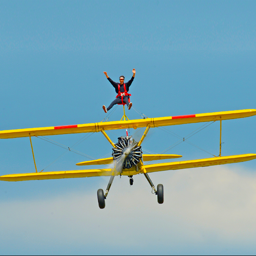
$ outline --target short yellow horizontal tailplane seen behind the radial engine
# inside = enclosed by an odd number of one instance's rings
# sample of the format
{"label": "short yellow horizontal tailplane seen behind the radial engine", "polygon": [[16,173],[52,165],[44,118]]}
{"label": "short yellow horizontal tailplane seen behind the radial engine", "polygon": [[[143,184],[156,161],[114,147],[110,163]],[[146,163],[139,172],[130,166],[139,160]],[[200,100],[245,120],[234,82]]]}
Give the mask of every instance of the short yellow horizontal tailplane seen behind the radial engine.
{"label": "short yellow horizontal tailplane seen behind the radial engine", "polygon": [[[176,154],[143,154],[144,161],[163,160],[163,159],[178,158],[178,157],[182,157],[182,156],[176,155]],[[111,164],[111,163],[113,163],[113,157],[84,161],[81,163],[76,163],[76,165],[84,166],[84,165],[98,165],[98,164]]]}

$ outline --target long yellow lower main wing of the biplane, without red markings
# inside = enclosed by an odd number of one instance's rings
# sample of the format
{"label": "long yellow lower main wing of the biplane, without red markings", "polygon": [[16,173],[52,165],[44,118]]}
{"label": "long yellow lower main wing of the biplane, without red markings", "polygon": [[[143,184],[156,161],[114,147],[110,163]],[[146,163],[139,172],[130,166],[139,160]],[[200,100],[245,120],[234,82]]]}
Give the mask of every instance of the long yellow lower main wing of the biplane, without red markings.
{"label": "long yellow lower main wing of the biplane, without red markings", "polygon": [[[212,157],[198,160],[189,160],[173,163],[157,163],[151,165],[144,165],[147,172],[160,172],[167,170],[186,169],[194,167],[215,166],[227,163],[239,163],[244,161],[253,160],[256,154],[242,154],[227,157]],[[125,169],[122,175],[136,175],[142,173],[136,170]],[[115,175],[112,169],[94,169],[94,170],[75,170],[63,172],[39,172],[39,173],[23,173],[23,174],[10,174],[0,176],[0,180],[5,181],[23,181],[23,180],[50,180],[50,179],[63,179],[63,178],[81,178],[81,177],[96,177],[96,176],[111,176]]]}

